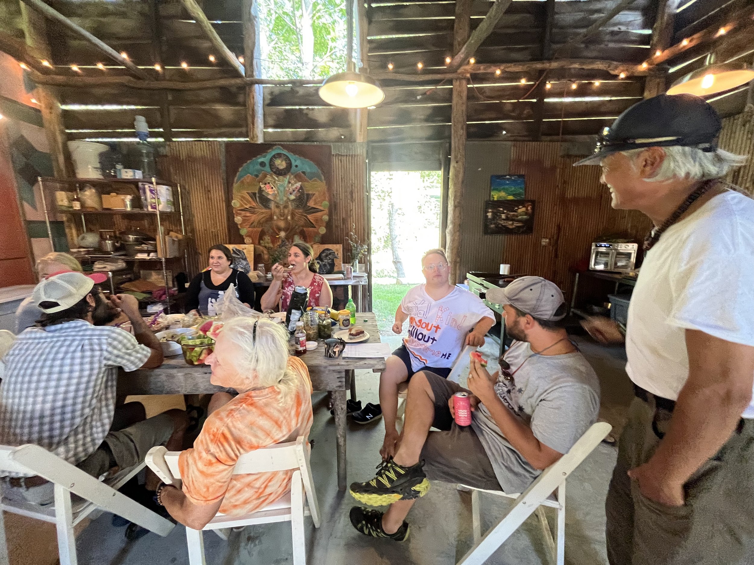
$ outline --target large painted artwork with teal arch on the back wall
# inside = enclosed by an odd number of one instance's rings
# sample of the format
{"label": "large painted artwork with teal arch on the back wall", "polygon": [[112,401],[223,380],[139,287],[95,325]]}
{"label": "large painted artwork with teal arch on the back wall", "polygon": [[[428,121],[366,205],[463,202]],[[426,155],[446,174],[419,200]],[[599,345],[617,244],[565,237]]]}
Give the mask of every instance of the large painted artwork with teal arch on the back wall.
{"label": "large painted artwork with teal arch on the back wall", "polygon": [[228,143],[231,240],[253,244],[265,263],[294,241],[319,243],[329,219],[331,158],[327,145]]}

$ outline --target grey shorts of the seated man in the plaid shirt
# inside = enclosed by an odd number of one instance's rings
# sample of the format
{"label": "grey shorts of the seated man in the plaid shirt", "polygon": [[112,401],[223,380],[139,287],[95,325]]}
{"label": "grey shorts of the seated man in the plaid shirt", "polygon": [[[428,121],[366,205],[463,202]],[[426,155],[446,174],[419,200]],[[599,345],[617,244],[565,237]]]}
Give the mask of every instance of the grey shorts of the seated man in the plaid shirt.
{"label": "grey shorts of the seated man in the plaid shirt", "polygon": [[[167,414],[158,414],[117,432],[108,432],[97,451],[78,463],[77,467],[95,478],[100,478],[112,468],[113,459],[116,466],[128,469],[139,465],[155,445],[166,444],[170,435],[173,435],[173,419]],[[4,484],[3,496],[48,505],[55,499],[54,484],[44,483],[29,488]]]}

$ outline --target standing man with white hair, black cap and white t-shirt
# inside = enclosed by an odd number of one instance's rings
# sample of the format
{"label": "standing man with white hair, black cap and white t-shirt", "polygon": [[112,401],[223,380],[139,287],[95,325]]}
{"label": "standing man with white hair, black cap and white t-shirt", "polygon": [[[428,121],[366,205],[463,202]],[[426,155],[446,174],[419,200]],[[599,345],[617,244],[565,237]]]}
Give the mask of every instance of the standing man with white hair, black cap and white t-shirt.
{"label": "standing man with white hair, black cap and white t-shirt", "polygon": [[754,563],[754,200],[722,180],[745,158],[717,148],[721,128],[703,99],[663,94],[576,163],[654,224],[625,336],[636,399],[606,502],[611,565]]}

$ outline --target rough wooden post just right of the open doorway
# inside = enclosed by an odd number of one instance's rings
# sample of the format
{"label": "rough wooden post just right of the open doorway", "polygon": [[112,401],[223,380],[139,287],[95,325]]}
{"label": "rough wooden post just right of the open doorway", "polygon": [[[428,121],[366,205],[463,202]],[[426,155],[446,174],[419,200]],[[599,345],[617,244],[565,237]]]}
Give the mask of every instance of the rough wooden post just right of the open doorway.
{"label": "rough wooden post just right of the open doorway", "polygon": [[[456,0],[453,52],[458,53],[469,37],[471,0]],[[464,194],[464,167],[466,166],[466,99],[467,78],[453,79],[450,114],[450,172],[448,175],[448,227],[446,228],[446,253],[450,263],[450,282],[455,285],[461,273],[461,206]]]}

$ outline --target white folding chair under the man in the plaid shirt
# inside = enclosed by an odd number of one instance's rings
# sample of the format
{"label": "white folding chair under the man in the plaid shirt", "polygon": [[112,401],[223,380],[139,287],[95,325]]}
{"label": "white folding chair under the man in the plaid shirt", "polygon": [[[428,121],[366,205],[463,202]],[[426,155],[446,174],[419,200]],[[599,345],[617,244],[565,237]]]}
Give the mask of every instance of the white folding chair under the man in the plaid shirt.
{"label": "white folding chair under the man in the plaid shirt", "polygon": [[[0,471],[39,475],[54,484],[55,502],[38,505],[26,500],[2,497],[2,509],[14,514],[51,522],[57,527],[57,547],[61,565],[76,565],[76,540],[73,527],[91,512],[101,509],[122,516],[147,530],[167,536],[175,524],[155,514],[122,493],[118,488],[143,469],[144,463],[124,469],[107,481],[97,478],[51,454],[44,447],[26,444],[20,447],[0,445]],[[10,488],[10,487],[5,487]],[[71,494],[80,499],[71,499]],[[7,555],[5,524],[0,512],[0,554]]]}

